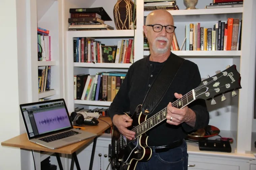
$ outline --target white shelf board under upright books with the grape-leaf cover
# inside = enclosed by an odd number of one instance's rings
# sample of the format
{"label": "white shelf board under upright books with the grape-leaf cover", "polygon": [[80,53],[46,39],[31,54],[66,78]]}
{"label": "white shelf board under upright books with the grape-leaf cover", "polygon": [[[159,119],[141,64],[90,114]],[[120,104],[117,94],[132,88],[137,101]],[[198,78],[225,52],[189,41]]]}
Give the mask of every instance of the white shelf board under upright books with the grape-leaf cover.
{"label": "white shelf board under upright books with the grape-leaf cover", "polygon": [[91,67],[91,68],[129,68],[131,63],[80,63],[74,62],[74,67]]}

